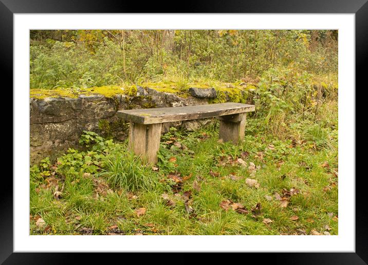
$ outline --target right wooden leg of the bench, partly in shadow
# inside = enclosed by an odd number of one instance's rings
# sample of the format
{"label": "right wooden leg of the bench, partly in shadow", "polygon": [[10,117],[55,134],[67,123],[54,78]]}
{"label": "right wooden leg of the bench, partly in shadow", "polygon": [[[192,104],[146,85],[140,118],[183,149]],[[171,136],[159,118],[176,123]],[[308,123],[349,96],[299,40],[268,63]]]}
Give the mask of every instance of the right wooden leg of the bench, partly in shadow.
{"label": "right wooden leg of the bench, partly in shadow", "polygon": [[232,142],[233,144],[242,141],[244,139],[246,117],[246,113],[217,117],[220,120],[218,138],[223,139],[224,142]]}

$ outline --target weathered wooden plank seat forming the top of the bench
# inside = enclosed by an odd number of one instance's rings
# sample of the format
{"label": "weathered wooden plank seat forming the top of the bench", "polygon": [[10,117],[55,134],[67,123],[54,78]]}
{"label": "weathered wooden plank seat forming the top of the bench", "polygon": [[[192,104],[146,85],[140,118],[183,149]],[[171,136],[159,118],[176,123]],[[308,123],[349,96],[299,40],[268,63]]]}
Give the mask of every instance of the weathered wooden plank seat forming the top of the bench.
{"label": "weathered wooden plank seat forming the top of the bench", "polygon": [[254,105],[218,103],[185,107],[119,110],[118,116],[139,124],[186,121],[254,111]]}

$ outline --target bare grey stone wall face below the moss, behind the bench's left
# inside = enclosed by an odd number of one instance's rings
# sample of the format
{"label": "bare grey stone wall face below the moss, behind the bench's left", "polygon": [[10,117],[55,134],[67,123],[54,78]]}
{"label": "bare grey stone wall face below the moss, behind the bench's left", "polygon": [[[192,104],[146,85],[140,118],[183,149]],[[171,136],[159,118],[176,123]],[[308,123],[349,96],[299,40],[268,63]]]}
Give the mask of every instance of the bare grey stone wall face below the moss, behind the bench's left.
{"label": "bare grey stone wall face below the moss, behind the bench's left", "polygon": [[[95,131],[117,140],[126,139],[128,123],[117,118],[117,110],[200,105],[208,104],[208,101],[206,98],[180,98],[176,94],[139,86],[135,97],[118,94],[114,98],[101,95],[81,95],[73,99],[31,98],[30,162],[38,163],[47,156],[54,160],[69,147],[78,147],[83,130]],[[163,131],[167,131],[169,126],[185,126],[188,130],[195,130],[209,121],[205,119],[165,124]]]}

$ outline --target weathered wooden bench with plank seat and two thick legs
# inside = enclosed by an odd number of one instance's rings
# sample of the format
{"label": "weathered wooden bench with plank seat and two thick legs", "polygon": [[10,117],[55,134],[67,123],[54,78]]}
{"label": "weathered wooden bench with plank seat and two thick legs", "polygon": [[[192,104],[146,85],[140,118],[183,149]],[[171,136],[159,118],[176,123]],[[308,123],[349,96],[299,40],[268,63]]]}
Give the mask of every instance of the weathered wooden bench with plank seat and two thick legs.
{"label": "weathered wooden bench with plank seat and two thick legs", "polygon": [[219,139],[237,144],[244,138],[246,112],[254,105],[218,103],[185,107],[119,110],[118,117],[130,121],[129,148],[149,163],[157,163],[162,124],[216,117],[220,120]]}

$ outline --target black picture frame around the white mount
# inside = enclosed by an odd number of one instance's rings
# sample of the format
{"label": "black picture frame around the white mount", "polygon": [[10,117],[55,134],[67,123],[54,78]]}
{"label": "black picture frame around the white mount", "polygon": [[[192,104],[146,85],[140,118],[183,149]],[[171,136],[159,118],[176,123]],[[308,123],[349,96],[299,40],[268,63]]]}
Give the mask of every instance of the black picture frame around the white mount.
{"label": "black picture frame around the white mount", "polygon": [[[364,80],[364,66],[368,62],[368,3],[367,0],[248,0],[248,1],[187,1],[174,8],[175,2],[134,2],[99,0],[0,0],[0,36],[3,76],[11,77],[13,70],[13,15],[16,13],[354,13],[356,36],[356,87]],[[143,4],[144,3],[144,4]],[[12,80],[10,84],[12,87]],[[10,87],[9,86],[9,87]],[[355,89],[355,88],[354,88]],[[356,89],[355,89],[356,91]],[[12,97],[12,96],[11,96]],[[14,132],[13,132],[14,133]],[[16,141],[13,137],[13,142]],[[16,159],[14,157],[13,159]],[[357,163],[356,163],[357,164]],[[354,176],[346,176],[354,177]],[[247,260],[290,264],[366,264],[368,262],[367,207],[365,174],[356,175],[356,252],[355,253],[249,253]],[[8,183],[4,183],[8,181]],[[0,200],[0,262],[5,264],[72,263],[74,257],[66,253],[13,253],[13,181],[3,178]],[[83,261],[98,261],[93,253],[84,253]],[[126,254],[124,254],[126,255]],[[141,255],[141,254],[139,254]],[[152,253],[150,254],[150,259]],[[252,255],[249,256],[249,255]],[[109,257],[115,257],[110,253]],[[216,255],[212,255],[216,257]],[[243,256],[244,258],[244,256]],[[173,261],[171,258],[169,258]],[[181,258],[178,258],[179,261]],[[104,261],[106,259],[104,258]]]}

